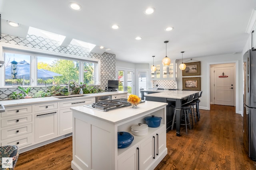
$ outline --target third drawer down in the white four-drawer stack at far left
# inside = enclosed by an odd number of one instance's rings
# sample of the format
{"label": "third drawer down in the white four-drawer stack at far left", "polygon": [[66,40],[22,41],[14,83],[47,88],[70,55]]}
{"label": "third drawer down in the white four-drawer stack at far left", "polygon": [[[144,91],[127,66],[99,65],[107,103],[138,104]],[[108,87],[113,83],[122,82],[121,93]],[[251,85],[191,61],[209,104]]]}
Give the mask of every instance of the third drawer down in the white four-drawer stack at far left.
{"label": "third drawer down in the white four-drawer stack at far left", "polygon": [[12,127],[9,129],[3,129],[1,130],[1,139],[8,139],[10,137],[16,137],[20,135],[24,135],[26,133],[32,132],[32,124],[18,126],[18,127]]}

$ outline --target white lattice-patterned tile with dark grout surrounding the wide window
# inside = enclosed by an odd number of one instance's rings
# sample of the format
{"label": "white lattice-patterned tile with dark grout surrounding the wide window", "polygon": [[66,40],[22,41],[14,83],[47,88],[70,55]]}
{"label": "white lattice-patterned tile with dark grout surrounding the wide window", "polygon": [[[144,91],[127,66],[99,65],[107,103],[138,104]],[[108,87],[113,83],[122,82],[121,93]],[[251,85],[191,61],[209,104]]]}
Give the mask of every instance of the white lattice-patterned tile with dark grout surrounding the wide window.
{"label": "white lattice-patterned tile with dark grout surrounding the wide window", "polygon": [[[85,47],[71,45],[68,47],[62,47],[58,44],[58,41],[51,39],[44,39],[43,37],[37,37],[35,35],[28,35],[26,38],[15,37],[12,35],[6,35],[2,33],[0,42],[21,45],[36,49],[43,49],[48,51],[55,51],[58,53],[65,53],[71,55],[77,55],[82,57],[88,57],[92,59],[100,59],[100,86],[103,90],[108,84],[108,80],[113,80],[116,75],[116,55],[110,53],[103,53],[102,55],[96,53],[90,53]],[[45,87],[32,88],[31,92],[44,91]],[[17,88],[0,88],[0,100],[8,99],[9,94],[12,92],[20,92]]]}

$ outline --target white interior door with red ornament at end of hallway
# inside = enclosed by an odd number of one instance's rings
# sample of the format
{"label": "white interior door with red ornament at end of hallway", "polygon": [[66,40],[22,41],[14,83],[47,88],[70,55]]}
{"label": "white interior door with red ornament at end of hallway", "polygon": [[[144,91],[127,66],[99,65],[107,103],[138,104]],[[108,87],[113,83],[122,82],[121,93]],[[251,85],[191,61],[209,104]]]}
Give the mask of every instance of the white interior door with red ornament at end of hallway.
{"label": "white interior door with red ornament at end of hallway", "polygon": [[234,67],[214,68],[214,104],[234,106]]}

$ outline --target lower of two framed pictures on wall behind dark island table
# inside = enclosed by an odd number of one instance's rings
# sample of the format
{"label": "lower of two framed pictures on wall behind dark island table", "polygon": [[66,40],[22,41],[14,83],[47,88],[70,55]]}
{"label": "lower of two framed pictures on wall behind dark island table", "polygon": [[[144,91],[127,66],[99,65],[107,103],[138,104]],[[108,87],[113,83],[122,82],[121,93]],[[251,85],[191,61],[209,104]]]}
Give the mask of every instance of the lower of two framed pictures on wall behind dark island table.
{"label": "lower of two framed pictures on wall behind dark island table", "polygon": [[201,90],[201,77],[188,77],[182,78],[182,89],[183,90]]}

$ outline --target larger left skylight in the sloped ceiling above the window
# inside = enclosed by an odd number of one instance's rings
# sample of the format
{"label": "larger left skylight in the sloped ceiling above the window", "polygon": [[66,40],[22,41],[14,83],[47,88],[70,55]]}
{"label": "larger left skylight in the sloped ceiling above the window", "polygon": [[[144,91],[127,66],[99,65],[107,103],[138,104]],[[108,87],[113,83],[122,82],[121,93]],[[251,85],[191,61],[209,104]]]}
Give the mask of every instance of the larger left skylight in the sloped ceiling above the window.
{"label": "larger left skylight in the sloped ceiling above the window", "polygon": [[44,38],[47,38],[47,39],[52,39],[52,40],[58,41],[59,45],[61,45],[62,42],[64,41],[64,39],[66,38],[66,36],[64,36],[64,35],[51,33],[51,32],[44,31],[42,29],[37,29],[37,28],[34,28],[34,27],[29,27],[28,34],[29,35],[36,35],[38,37],[44,37]]}

